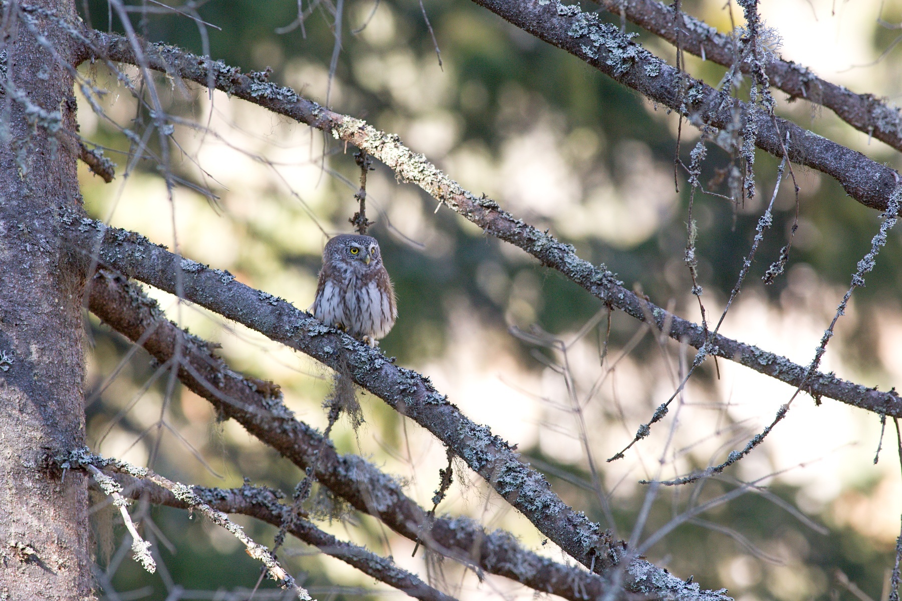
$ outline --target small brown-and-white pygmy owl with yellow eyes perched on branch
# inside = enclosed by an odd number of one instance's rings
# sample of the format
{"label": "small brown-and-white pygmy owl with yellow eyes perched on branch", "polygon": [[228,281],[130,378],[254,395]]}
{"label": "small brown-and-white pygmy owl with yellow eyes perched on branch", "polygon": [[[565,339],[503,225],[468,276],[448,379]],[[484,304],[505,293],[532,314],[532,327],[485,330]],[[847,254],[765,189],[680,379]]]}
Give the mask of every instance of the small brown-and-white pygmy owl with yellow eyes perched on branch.
{"label": "small brown-and-white pygmy owl with yellow eyes perched on branch", "polygon": [[327,241],[317,297],[308,310],[370,346],[385,337],[398,307],[375,238],[342,234]]}

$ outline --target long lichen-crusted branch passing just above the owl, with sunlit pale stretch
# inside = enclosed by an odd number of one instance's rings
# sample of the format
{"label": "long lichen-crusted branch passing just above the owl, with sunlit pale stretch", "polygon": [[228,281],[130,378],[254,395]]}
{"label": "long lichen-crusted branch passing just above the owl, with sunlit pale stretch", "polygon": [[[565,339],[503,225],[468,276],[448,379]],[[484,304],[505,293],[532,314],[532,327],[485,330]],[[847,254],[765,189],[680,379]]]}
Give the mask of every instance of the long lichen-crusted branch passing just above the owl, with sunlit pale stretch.
{"label": "long lichen-crusted branch passing just above the owl, with sunlit pale stretch", "polygon": [[[541,13],[547,8],[548,6],[538,5],[537,11]],[[575,10],[578,12],[578,9]],[[571,10],[570,12],[572,13],[573,11]],[[538,14],[534,16],[538,18]],[[550,18],[550,15],[546,16]],[[554,16],[557,17],[557,13]],[[541,24],[539,22],[536,23],[538,23],[537,26]],[[619,32],[615,33],[620,35]],[[95,32],[95,35],[97,44],[100,45],[100,50],[103,50],[102,55],[108,55],[111,59],[123,62],[134,60],[130,46],[124,38],[101,32]],[[624,43],[628,43],[630,50],[635,52],[637,56],[641,55],[644,57],[646,54],[649,54],[632,44],[632,42]],[[539,232],[531,225],[516,219],[513,215],[502,210],[491,199],[485,196],[476,196],[474,193],[461,187],[456,181],[448,178],[446,174],[436,168],[435,165],[428,162],[426,157],[421,154],[415,154],[404,146],[397,135],[380,132],[363,120],[334,113],[307,98],[297,95],[289,87],[276,86],[266,81],[263,74],[251,73],[244,75],[239,69],[226,67],[221,61],[216,61],[210,65],[207,59],[202,59],[189,52],[161,44],[149,46],[145,56],[150,61],[151,68],[195,81],[200,85],[207,84],[209,70],[212,69],[215,71],[214,79],[217,89],[243,98],[255,105],[260,105],[273,113],[283,114],[300,123],[307,123],[311,127],[331,132],[337,139],[354,144],[358,148],[365,150],[370,156],[382,160],[383,163],[394,170],[398,178],[421,187],[429,195],[437,198],[439,202],[479,225],[485,232],[503,241],[510,242],[522,250],[526,250],[543,265],[557,269],[566,278],[571,279],[592,295],[603,300],[605,304],[617,307],[641,322],[649,323],[658,332],[666,332],[668,336],[676,341],[686,341],[695,349],[701,349],[708,343],[707,354],[736,361],[747,368],[754,369],[771,378],[777,378],[793,387],[798,387],[805,379],[805,368],[787,360],[785,357],[762,351],[758,347],[732,340],[722,334],[712,336],[711,332],[706,332],[701,326],[671,314],[649,300],[637,296],[631,290],[622,287],[622,282],[617,281],[614,275],[605,269],[604,266],[595,267],[588,261],[576,256],[572,246],[563,244],[555,240],[553,236]],[[649,57],[658,61],[654,63],[658,65],[658,68],[670,69],[670,76],[673,76],[671,79],[674,82],[677,81],[677,74],[674,69],[667,67],[666,64],[663,64],[655,57],[651,57],[650,54]],[[645,73],[645,71],[642,71],[642,73]],[[664,76],[665,72],[661,70],[656,77]],[[647,78],[655,79],[655,77],[650,76]],[[759,132],[763,131],[760,129],[762,127],[772,128],[770,119],[765,121],[766,123],[760,124]],[[793,125],[792,127],[796,126]],[[814,133],[806,132],[805,135],[809,138],[817,138],[824,144],[831,145],[831,148],[840,149],[836,151],[843,156],[844,153],[855,155],[855,157],[852,157],[855,160],[841,163],[841,166],[848,167],[850,172],[857,173],[858,167],[856,165],[858,165],[858,162],[863,161],[864,168],[872,167],[877,169],[879,173],[886,173],[889,181],[893,182],[890,191],[895,189],[896,179],[893,174],[896,172],[892,169],[878,165],[861,153],[845,149],[838,144],[816,136]],[[814,152],[814,150],[812,151]],[[782,152],[778,156],[782,157]],[[790,153],[791,158],[792,155]],[[866,178],[866,174],[862,175],[862,177]],[[879,176],[879,178],[875,176],[875,178],[879,179],[882,176]],[[873,184],[874,181],[870,181],[870,184]],[[882,198],[881,202],[885,205],[886,198]],[[842,378],[836,378],[832,374],[822,374],[820,372],[805,381],[804,390],[815,397],[827,396],[877,414],[902,417],[902,399],[899,399],[895,391],[879,392],[873,388],[863,387],[859,384],[845,381]]]}

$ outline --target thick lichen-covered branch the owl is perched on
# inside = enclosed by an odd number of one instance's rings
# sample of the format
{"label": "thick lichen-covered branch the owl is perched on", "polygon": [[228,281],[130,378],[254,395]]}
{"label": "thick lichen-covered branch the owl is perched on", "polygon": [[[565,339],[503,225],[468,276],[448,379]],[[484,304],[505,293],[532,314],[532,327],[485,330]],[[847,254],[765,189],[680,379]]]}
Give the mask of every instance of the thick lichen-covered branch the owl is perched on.
{"label": "thick lichen-covered branch the owl is perched on", "polygon": [[380,351],[327,327],[281,298],[245,286],[227,271],[183,259],[133,232],[73,214],[61,218],[71,226],[67,232],[69,244],[84,253],[86,263],[97,250],[100,265],[172,294],[178,283],[192,303],[243,323],[332,369],[347,369],[355,383],[453,449],[539,532],[575,560],[600,573],[624,569],[622,581],[627,590],[704,601],[728,598],[722,591],[701,590],[697,583],[686,583],[645,560],[619,566],[624,543],[613,540],[599,524],[566,505],[551,490],[548,480],[520,461],[519,453],[488,427],[467,419],[428,378],[395,366]]}

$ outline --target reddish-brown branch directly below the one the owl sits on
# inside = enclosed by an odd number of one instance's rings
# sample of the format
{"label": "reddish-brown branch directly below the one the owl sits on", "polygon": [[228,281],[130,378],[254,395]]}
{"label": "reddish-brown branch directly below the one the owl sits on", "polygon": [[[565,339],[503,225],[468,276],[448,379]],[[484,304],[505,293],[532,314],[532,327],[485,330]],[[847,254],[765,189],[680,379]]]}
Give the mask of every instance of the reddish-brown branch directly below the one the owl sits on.
{"label": "reddish-brown branch directly below the one the owl sits on", "polygon": [[540,557],[523,549],[511,534],[485,532],[472,520],[438,518],[424,533],[426,510],[404,494],[395,478],[357,455],[338,454],[331,442],[324,442],[320,433],[296,420],[282,405],[278,387],[228,369],[207,342],[167,320],[139,286],[100,271],[94,277],[89,302],[94,314],[127,338],[141,341],[161,364],[171,360],[176,339],[181,337],[179,378],[186,387],[300,469],[315,466],[320,484],[395,532],[410,540],[423,540],[433,551],[474,569],[572,601],[582,601],[579,591],[600,598],[609,588],[603,578]]}

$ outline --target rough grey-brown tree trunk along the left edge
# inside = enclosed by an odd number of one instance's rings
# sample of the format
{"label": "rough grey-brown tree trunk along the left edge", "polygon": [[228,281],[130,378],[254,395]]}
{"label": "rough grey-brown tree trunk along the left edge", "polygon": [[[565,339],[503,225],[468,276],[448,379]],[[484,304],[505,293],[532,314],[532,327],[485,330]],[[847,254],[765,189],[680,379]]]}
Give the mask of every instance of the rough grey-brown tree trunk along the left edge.
{"label": "rough grey-brown tree trunk along the left edge", "polygon": [[[58,218],[81,202],[66,132],[76,105],[67,68],[42,45],[70,65],[78,44],[9,4],[0,9],[0,599],[80,600],[93,598],[87,489],[49,460],[85,443],[83,277]],[[29,4],[75,21],[72,0]]]}

